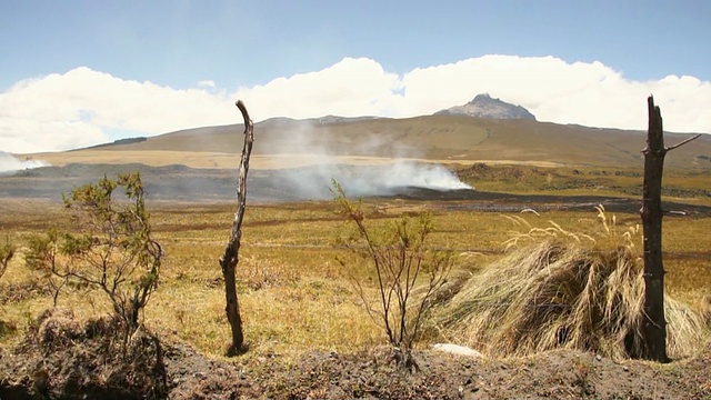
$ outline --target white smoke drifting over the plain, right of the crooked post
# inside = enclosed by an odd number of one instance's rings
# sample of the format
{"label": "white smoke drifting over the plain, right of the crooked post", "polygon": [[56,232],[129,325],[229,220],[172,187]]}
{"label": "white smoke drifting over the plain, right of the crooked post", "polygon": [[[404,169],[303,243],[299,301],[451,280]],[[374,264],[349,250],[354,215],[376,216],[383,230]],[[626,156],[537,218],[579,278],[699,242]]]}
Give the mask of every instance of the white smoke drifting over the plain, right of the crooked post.
{"label": "white smoke drifting over the plain, right of the crooked post", "polygon": [[[375,134],[362,134],[356,144],[348,146],[348,150],[337,149],[327,143],[338,142],[338,139],[333,139],[328,131],[323,132],[323,128],[317,127],[317,123],[301,124],[301,129],[289,132],[290,140],[281,149],[271,149],[276,153],[309,154],[311,158],[312,166],[291,168],[281,173],[281,190],[292,197],[330,198],[332,194],[329,189],[333,180],[351,197],[392,196],[408,188],[438,191],[473,189],[441,164],[415,161],[418,150]],[[383,154],[383,149],[388,154]],[[346,154],[385,156],[390,160],[349,163],[343,161],[342,156]]]}

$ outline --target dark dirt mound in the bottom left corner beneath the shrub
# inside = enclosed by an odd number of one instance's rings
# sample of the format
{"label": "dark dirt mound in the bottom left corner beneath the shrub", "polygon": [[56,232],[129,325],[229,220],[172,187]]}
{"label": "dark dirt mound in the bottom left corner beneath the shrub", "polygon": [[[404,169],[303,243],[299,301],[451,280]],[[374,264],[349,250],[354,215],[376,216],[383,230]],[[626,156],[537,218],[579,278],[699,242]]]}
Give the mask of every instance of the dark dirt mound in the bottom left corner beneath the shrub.
{"label": "dark dirt mound in the bottom left corner beneath the shrub", "polygon": [[0,398],[164,398],[159,340],[139,330],[124,347],[110,318],[79,321],[46,311],[24,341],[0,360]]}

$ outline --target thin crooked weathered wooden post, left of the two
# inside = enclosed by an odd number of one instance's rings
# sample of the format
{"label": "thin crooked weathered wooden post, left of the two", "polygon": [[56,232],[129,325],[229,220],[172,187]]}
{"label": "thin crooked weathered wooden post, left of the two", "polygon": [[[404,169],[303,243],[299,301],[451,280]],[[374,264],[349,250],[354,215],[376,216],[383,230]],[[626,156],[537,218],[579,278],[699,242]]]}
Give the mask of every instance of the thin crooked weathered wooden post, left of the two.
{"label": "thin crooked weathered wooden post, left of the two", "polygon": [[224,277],[224,294],[227,298],[227,319],[232,329],[232,344],[228,350],[228,356],[240,353],[244,342],[242,333],[242,319],[240,317],[240,308],[237,301],[237,282],[234,270],[238,263],[238,254],[240,250],[240,239],[242,238],[242,218],[244,217],[244,203],[247,201],[247,172],[249,171],[249,157],[252,152],[252,142],[254,141],[254,126],[249,118],[244,103],[240,100],[237,108],[242,112],[244,119],[244,147],[242,148],[242,158],[240,160],[239,177],[237,180],[237,212],[232,222],[232,231],[230,232],[230,241],[224,248],[224,254],[220,257],[220,267]]}

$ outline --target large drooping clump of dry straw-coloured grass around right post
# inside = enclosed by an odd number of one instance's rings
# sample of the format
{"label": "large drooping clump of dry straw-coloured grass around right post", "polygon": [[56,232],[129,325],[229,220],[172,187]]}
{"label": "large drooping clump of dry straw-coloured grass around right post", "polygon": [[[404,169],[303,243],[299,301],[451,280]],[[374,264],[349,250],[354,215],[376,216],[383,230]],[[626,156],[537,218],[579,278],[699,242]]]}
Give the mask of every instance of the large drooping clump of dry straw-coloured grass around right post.
{"label": "large drooping clump of dry straw-coloured grass around right post", "polygon": [[[554,222],[537,229],[512,218],[529,232],[509,241],[509,247],[522,239],[534,243],[488,266],[443,299],[435,318],[442,333],[493,356],[528,356],[554,348],[615,359],[639,356],[644,280],[634,232],[615,231],[614,218],[602,207],[598,211],[605,238],[601,246],[599,239]],[[669,296],[665,312],[668,353],[683,358],[701,350],[707,336],[703,318]]]}

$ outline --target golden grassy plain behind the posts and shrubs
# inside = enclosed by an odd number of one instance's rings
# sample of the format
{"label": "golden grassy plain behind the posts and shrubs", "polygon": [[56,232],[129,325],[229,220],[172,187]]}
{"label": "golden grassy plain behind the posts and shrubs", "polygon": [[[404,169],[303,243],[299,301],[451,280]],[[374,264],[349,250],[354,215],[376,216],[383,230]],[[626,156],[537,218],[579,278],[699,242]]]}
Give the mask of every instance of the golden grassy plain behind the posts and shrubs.
{"label": "golden grassy plain behind the posts and shrubs", "polygon": [[[220,356],[229,339],[224,292],[218,258],[223,251],[234,204],[157,202],[153,231],[166,250],[160,288],[146,310],[146,323],[177,340]],[[498,212],[447,210],[439,202],[371,200],[368,222],[384,226],[400,216],[427,210],[437,232],[430,246],[457,254],[457,270],[473,272],[500,258],[515,227]],[[0,234],[19,244],[29,233],[66,224],[62,209],[44,201],[1,200]],[[601,231],[594,209],[527,213],[532,226],[550,221],[574,232]],[[639,223],[639,214],[618,214],[618,224]],[[678,300],[704,307],[711,294],[711,217],[674,217],[664,221],[667,289]],[[308,350],[357,351],[385,342],[353,290],[353,273],[369,284],[368,264],[336,246],[352,229],[331,202],[248,204],[238,266],[239,301],[244,319],[247,357],[281,354],[287,359]],[[641,247],[641,237],[635,239]],[[20,251],[21,253],[21,251]],[[346,260],[342,267],[338,259]],[[346,270],[351,268],[351,270]],[[374,288],[374,284],[372,286]],[[0,319],[17,328],[6,343],[19,340],[28,323],[51,306],[39,274],[22,257],[0,279]],[[107,312],[101,298],[73,293],[60,299],[80,316]],[[430,333],[429,341],[444,341]],[[420,346],[425,346],[425,342]]]}

